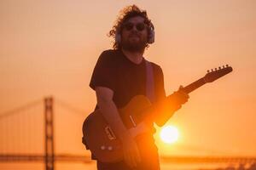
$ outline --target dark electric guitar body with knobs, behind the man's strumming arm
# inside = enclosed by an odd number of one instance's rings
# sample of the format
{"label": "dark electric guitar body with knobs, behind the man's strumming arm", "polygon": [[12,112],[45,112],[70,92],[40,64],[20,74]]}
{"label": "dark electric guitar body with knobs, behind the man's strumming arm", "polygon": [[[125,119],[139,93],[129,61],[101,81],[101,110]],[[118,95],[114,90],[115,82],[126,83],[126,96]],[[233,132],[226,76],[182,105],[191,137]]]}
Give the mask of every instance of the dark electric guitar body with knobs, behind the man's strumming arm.
{"label": "dark electric guitar body with knobs, behind the man's strumming arm", "polygon": [[[125,127],[135,127],[138,121],[137,114],[151,105],[147,97],[137,95],[124,108],[119,109],[119,115]],[[108,122],[99,110],[90,113],[84,121],[83,133],[85,143],[96,159],[102,162],[116,162],[123,159],[122,144],[113,133]],[[141,143],[143,141],[138,141]],[[138,144],[140,145],[140,144]]]}

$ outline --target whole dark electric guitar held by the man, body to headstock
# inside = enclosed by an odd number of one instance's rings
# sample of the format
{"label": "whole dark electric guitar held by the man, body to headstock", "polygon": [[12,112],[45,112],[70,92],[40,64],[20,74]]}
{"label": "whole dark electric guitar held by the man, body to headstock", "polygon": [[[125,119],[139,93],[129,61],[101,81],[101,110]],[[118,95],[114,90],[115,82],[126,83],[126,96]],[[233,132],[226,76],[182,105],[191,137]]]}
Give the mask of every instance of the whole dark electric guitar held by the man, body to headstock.
{"label": "whole dark electric guitar held by the man, body to headstock", "polygon": [[[205,77],[192,82],[182,90],[189,94],[207,82],[213,82],[220,77],[224,77],[224,75],[230,73],[232,70],[232,67],[226,65],[222,68],[218,67],[218,69],[215,68],[215,70],[207,71]],[[168,99],[172,99],[172,94],[166,97],[166,100]],[[151,105],[146,96],[137,95],[131,99],[128,105],[119,109],[119,115],[125,127],[130,129],[131,127],[136,127],[140,122],[145,121],[146,117],[152,114],[153,108],[154,105]],[[83,134],[83,143],[86,143],[87,148],[96,156],[97,160],[115,162],[123,159],[122,144],[99,110],[90,113],[86,117],[84,120]],[[140,142],[142,141],[137,141],[137,143]]]}

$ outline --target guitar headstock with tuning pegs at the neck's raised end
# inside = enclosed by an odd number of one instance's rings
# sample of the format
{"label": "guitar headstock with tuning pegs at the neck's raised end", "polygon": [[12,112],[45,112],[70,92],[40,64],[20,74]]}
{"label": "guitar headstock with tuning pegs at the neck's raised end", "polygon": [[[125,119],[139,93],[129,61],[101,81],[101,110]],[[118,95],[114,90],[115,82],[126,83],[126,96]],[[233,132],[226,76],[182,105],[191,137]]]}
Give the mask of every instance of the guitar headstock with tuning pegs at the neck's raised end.
{"label": "guitar headstock with tuning pegs at the neck's raised end", "polygon": [[223,77],[224,75],[230,73],[233,71],[232,67],[229,65],[223,65],[223,67],[212,69],[211,71],[207,71],[206,76],[204,77],[205,82],[213,82],[217,80],[220,77]]}

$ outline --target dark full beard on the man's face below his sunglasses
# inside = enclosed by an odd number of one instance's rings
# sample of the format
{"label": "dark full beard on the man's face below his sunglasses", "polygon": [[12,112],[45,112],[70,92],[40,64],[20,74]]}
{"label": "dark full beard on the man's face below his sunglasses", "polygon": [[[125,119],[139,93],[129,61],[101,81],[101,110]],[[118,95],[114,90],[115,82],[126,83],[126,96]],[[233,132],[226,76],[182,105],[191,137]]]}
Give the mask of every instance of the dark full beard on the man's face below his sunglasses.
{"label": "dark full beard on the man's face below his sunglasses", "polygon": [[[137,40],[134,40],[134,39]],[[131,52],[142,52],[147,47],[147,38],[137,35],[136,33],[131,34],[127,38],[122,38],[122,48]]]}

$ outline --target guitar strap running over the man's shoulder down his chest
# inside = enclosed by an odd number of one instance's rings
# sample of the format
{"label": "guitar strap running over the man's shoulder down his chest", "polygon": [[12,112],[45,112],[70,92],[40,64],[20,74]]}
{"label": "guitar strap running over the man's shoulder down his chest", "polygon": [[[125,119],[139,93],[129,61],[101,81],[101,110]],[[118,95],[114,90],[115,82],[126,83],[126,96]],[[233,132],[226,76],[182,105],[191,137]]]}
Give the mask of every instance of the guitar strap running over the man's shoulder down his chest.
{"label": "guitar strap running over the man's shoulder down his chest", "polygon": [[[145,59],[146,60],[146,59]],[[154,96],[154,71],[153,66],[151,63],[146,60],[146,74],[147,74],[147,82],[146,82],[146,96],[151,101],[151,103],[154,102],[155,96]]]}

